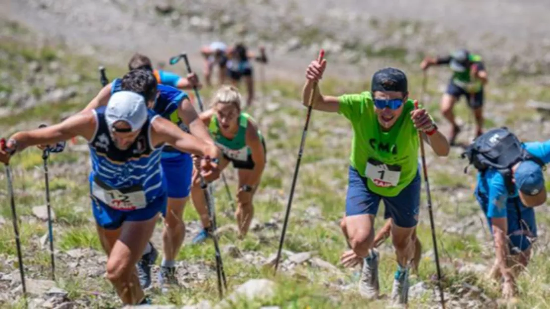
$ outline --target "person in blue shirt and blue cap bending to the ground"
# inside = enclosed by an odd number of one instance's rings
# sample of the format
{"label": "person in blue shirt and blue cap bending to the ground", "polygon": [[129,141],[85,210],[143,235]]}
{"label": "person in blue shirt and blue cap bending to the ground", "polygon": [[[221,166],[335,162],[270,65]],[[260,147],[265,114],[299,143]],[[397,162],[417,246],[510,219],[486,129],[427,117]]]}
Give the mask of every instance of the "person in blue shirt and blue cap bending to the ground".
{"label": "person in blue shirt and blue cap bending to the ground", "polygon": [[550,140],[520,145],[529,157],[513,164],[508,187],[502,172],[488,168],[477,174],[475,189],[476,199],[494,237],[496,261],[490,277],[503,279],[505,298],[517,294],[515,278],[531,256],[532,243],[537,237],[533,207],[546,201],[541,164],[550,162]]}

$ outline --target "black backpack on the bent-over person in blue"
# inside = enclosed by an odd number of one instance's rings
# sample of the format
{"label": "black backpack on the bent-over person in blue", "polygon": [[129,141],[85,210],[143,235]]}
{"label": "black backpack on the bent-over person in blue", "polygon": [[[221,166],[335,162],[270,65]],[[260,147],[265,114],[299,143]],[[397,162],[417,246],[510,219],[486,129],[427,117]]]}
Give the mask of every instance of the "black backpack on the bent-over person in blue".
{"label": "black backpack on the bent-over person in blue", "polygon": [[[460,156],[468,158],[468,165],[473,164],[482,174],[489,168],[498,170],[504,177],[509,194],[515,192],[515,186],[511,181],[511,168],[514,164],[531,160],[544,167],[544,162],[527,152],[521,146],[518,137],[505,126],[491,129],[478,136]],[[464,173],[467,173],[467,168],[464,169]]]}

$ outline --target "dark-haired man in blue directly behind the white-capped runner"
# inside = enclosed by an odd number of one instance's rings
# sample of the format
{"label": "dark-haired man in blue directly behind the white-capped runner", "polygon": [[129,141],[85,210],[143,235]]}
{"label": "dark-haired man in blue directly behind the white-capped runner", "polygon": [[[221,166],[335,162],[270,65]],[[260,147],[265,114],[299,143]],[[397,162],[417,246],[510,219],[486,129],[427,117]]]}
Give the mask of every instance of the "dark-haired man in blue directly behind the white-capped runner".
{"label": "dark-haired man in blue directly behind the white-capped runner", "polygon": [[[145,56],[141,56],[145,57]],[[120,90],[132,90],[131,76],[144,75],[143,78],[156,79],[148,62],[140,57],[134,56],[130,60],[129,67],[133,65],[141,69],[131,70],[123,79],[114,79],[111,84],[105,86],[100,93],[84,109],[94,109],[106,104],[112,93]],[[137,60],[136,60],[137,59]],[[149,65],[147,65],[149,64]],[[145,68],[144,68],[145,66]],[[147,75],[145,77],[145,75]],[[158,80],[157,80],[158,82]],[[167,85],[157,86],[157,95],[150,108],[161,115],[163,118],[171,120],[186,133],[191,133],[203,141],[212,145],[213,152],[216,152],[218,159],[221,159],[222,153],[215,146],[205,124],[199,119],[193,104],[187,93]],[[166,292],[170,285],[178,285],[175,277],[175,257],[178,255],[185,238],[185,224],[183,221],[183,211],[185,204],[189,200],[191,190],[191,176],[193,174],[193,160],[189,153],[183,153],[173,147],[165,146],[161,155],[161,165],[167,180],[168,201],[166,207],[162,210],[164,225],[162,230],[163,239],[163,259],[161,271],[158,273],[158,283],[162,286],[162,291]],[[158,251],[149,242],[145,247],[144,255],[138,262],[138,275],[142,288],[148,288],[151,285],[151,266],[155,264]]]}

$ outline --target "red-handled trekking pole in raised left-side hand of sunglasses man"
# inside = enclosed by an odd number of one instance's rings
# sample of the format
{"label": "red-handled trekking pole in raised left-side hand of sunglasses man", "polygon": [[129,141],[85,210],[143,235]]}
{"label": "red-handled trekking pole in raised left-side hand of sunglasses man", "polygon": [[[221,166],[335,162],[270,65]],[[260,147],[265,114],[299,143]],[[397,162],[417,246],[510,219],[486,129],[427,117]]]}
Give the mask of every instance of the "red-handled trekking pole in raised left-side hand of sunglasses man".
{"label": "red-handled trekking pole in raised left-side hand of sunglasses man", "polygon": [[[318,62],[321,62],[324,58],[324,49],[319,52]],[[296,168],[294,169],[294,177],[292,179],[292,186],[290,186],[290,196],[288,197],[287,213],[284,216],[283,230],[281,233],[281,239],[279,240],[279,249],[277,251],[277,258],[275,260],[275,273],[279,267],[279,259],[281,258],[281,251],[283,250],[284,234],[287,231],[288,217],[290,215],[290,206],[292,205],[292,198],[294,196],[294,189],[296,187],[296,179],[298,179],[298,170],[300,169],[300,161],[302,160],[302,153],[304,152],[304,144],[306,141],[307,127],[311,119],[311,110],[313,109],[313,98],[315,97],[315,89],[317,88],[317,82],[313,82],[311,87],[309,104],[307,106],[306,123],[304,125],[304,131],[302,131],[302,139],[300,141],[300,149],[298,150],[298,161],[296,161]]]}

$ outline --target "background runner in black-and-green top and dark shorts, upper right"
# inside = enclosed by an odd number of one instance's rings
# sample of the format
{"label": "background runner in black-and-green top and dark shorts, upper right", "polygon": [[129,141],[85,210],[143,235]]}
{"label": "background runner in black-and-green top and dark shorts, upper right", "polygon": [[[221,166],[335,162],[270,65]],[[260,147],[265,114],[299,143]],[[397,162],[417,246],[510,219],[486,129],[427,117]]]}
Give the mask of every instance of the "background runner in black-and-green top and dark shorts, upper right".
{"label": "background runner in black-and-green top and dark shorts, upper right", "polygon": [[483,131],[483,92],[487,84],[487,71],[481,61],[481,56],[471,54],[465,49],[459,49],[445,57],[426,57],[420,67],[427,70],[432,65],[448,64],[453,70],[449,80],[447,91],[441,100],[441,113],[451,124],[449,136],[450,145],[455,144],[456,135],[460,133],[460,127],[454,121],[454,103],[461,96],[466,97],[468,106],[474,110],[476,119],[476,136]]}

